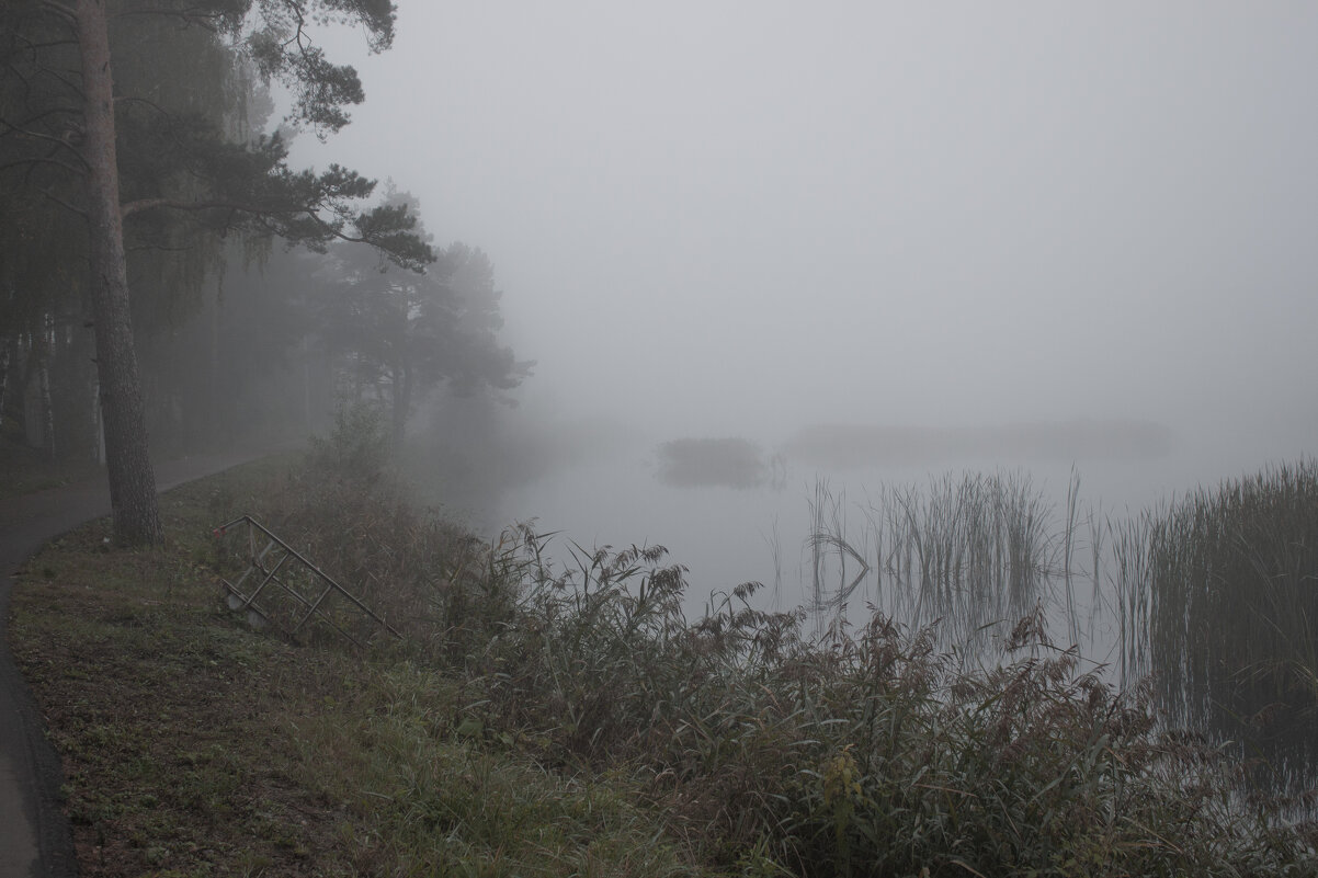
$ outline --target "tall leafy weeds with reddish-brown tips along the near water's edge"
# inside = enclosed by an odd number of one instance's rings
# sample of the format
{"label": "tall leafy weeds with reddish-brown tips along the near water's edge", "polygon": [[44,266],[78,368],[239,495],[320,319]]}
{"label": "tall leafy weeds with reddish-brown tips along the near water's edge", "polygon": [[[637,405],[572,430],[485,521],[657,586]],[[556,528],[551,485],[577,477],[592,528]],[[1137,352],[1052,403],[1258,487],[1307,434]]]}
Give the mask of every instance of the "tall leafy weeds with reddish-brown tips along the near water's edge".
{"label": "tall leafy weeds with reddish-brown tips along the near water's edge", "polygon": [[[1302,834],[1232,799],[1235,762],[1157,722],[1036,613],[965,670],[932,626],[875,616],[801,635],[755,587],[680,614],[681,568],[635,547],[546,576],[469,682],[481,724],[544,758],[647,779],[677,831],[729,866],[791,874],[1285,874]],[[631,587],[627,579],[631,579]]]}

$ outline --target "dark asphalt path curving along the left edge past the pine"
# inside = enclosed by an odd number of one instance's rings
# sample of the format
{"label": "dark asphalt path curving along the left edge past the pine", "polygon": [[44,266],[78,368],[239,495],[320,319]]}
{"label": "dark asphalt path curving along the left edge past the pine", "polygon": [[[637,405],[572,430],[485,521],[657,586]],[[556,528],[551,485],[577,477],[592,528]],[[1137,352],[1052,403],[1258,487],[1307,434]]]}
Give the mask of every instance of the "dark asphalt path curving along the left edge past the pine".
{"label": "dark asphalt path curving along the left edge past the pine", "polygon": [[[159,490],[169,490],[270,451],[235,450],[158,461],[156,483]],[[0,878],[78,874],[72,833],[62,811],[59,754],[9,651],[12,575],[45,543],[108,514],[104,477],[0,500]]]}

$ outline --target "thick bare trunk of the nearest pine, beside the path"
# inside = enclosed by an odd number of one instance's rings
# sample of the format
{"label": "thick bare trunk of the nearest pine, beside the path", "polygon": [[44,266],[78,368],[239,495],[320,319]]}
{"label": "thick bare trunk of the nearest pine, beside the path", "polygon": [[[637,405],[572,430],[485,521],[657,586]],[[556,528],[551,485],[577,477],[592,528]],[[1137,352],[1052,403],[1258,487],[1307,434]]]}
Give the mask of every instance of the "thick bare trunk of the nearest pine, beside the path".
{"label": "thick bare trunk of the nearest pine, beside the path", "polygon": [[82,53],[91,293],[109,504],[120,543],[152,543],[161,539],[162,530],[128,301],[105,3],[78,0],[75,16]]}

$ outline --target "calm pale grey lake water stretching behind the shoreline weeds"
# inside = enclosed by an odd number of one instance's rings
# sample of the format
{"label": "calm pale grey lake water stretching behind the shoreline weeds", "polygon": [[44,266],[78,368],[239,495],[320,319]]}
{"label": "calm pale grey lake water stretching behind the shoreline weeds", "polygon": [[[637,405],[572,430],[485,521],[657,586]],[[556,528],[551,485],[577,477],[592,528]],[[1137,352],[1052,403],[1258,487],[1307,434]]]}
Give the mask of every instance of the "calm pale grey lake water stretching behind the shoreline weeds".
{"label": "calm pale grey lake water stretching behind the shoreline weeds", "polygon": [[[1087,430],[1094,424],[1083,426]],[[538,457],[535,448],[523,454],[505,440],[488,443],[489,447],[469,443],[465,456],[445,452],[432,460],[448,461],[447,475],[435,464],[435,492],[444,497],[451,510],[465,510],[469,523],[492,538],[510,522],[534,519],[538,533],[554,533],[548,555],[563,566],[572,564],[573,546],[587,550],[604,546],[621,550],[631,544],[667,547],[668,560],[689,571],[684,608],[688,618],[699,618],[712,596],[731,592],[746,581],[764,584],[754,601],[771,610],[808,606],[816,599],[816,583],[825,597],[854,583],[846,602],[847,622],[863,624],[870,605],[905,625],[942,618],[940,645],[957,649],[961,660],[970,664],[991,663],[1002,655],[995,649],[996,641],[1004,638],[1023,614],[1016,612],[1021,602],[990,599],[983,609],[974,606],[973,600],[963,601],[962,606],[971,605],[971,612],[957,618],[954,613],[960,609],[949,616],[941,606],[931,610],[924,597],[919,602],[902,599],[902,591],[894,588],[891,559],[896,552],[891,547],[896,543],[892,542],[890,512],[903,509],[903,497],[907,502],[912,497],[936,494],[962,497],[967,486],[974,494],[985,485],[990,488],[987,504],[961,508],[1002,509],[1011,505],[1002,498],[1010,501],[1020,496],[1011,492],[1025,485],[1024,494],[1037,501],[1025,518],[1032,525],[1044,519],[1039,530],[1048,547],[1043,555],[1053,571],[1037,592],[1045,602],[1049,637],[1062,647],[1078,645],[1086,659],[1085,670],[1097,664],[1111,683],[1128,683],[1148,671],[1148,629],[1147,625],[1126,626],[1126,633],[1133,637],[1123,646],[1116,600],[1119,568],[1112,552],[1119,529],[1145,510],[1165,509],[1190,492],[1213,492],[1223,480],[1300,461],[1313,454],[1307,447],[1309,436],[1318,434],[1296,431],[1286,438],[1282,431],[1242,423],[1234,432],[1203,428],[1186,431],[1165,443],[1075,442],[1075,454],[1068,455],[1075,438],[1073,427],[1045,424],[1041,434],[1048,440],[1024,443],[1029,446],[1025,451],[1004,446],[1004,438],[1024,435],[1016,427],[896,434],[887,428],[846,427],[829,434],[838,442],[836,446],[825,442],[822,451],[816,442],[820,434],[811,431],[800,431],[780,443],[739,436],[655,436],[590,444],[576,436],[567,443],[573,454]],[[1095,426],[1095,431],[1102,432],[1101,427]],[[1115,428],[1108,435],[1130,438],[1131,434],[1123,430]],[[529,430],[513,430],[505,435],[530,434]],[[1148,438],[1139,428],[1133,435]],[[1256,440],[1251,442],[1251,435]],[[899,442],[903,436],[909,442]],[[883,455],[874,454],[875,459],[866,460],[857,451],[874,443],[892,459],[883,463]],[[985,448],[977,450],[977,444]],[[554,463],[544,465],[544,460]],[[500,476],[503,477],[502,492],[490,490]],[[1072,588],[1068,592],[1065,579],[1058,575],[1061,535],[1066,531],[1069,492],[1077,479],[1078,500],[1072,518],[1074,551],[1069,567]],[[457,490],[464,484],[465,494]],[[995,490],[999,493],[994,494]],[[478,505],[492,496],[497,496],[497,504]],[[463,497],[471,501],[465,508]],[[949,505],[956,508],[956,504]],[[991,512],[990,517],[994,514],[998,513]],[[812,534],[820,531],[821,518],[824,530],[853,547],[859,559],[836,543],[826,543],[817,552]],[[1019,522],[1021,517],[1012,521]],[[1000,534],[1000,525],[995,527]],[[879,533],[890,541],[883,550],[876,539]],[[1094,534],[1101,535],[1097,589]],[[988,554],[996,559],[1008,555],[1002,548],[1004,544],[999,542]],[[880,562],[880,558],[888,560]],[[917,579],[919,571],[911,576],[912,568],[907,566],[905,570],[908,581]],[[1007,592],[1010,588],[999,593]],[[1032,600],[1024,612],[1031,606]],[[805,630],[818,633],[833,618],[837,618],[833,609],[815,613],[808,617]],[[978,638],[974,647],[962,649],[970,637]],[[1300,733],[1307,733],[1307,728]],[[1294,757],[1297,762],[1282,762],[1282,767],[1293,767],[1278,776],[1288,783],[1296,778],[1305,782],[1309,776],[1305,766],[1310,765],[1304,762],[1307,753],[1304,750]]]}

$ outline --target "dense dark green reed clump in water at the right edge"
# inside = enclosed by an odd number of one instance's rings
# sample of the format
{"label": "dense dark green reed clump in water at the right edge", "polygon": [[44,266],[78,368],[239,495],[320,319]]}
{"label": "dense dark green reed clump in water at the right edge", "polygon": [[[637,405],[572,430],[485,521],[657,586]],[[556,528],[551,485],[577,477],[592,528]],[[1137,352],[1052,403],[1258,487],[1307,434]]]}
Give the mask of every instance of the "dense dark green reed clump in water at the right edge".
{"label": "dense dark green reed clump in water at the right edge", "polygon": [[1173,721],[1286,786],[1318,769],[1318,463],[1199,489],[1124,531],[1126,653]]}

